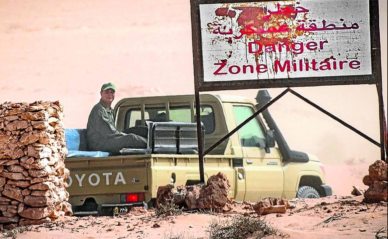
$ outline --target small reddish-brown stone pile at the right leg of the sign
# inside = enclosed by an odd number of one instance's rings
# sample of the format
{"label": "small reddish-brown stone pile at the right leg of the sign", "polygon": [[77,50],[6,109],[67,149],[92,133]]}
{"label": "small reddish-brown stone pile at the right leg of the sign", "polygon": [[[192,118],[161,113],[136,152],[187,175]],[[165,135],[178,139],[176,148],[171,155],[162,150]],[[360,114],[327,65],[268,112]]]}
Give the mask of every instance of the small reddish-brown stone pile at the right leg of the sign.
{"label": "small reddish-brown stone pile at the right leg of the sign", "polygon": [[364,200],[370,203],[387,201],[387,163],[377,160],[369,166],[369,175],[362,182],[369,188],[364,193]]}

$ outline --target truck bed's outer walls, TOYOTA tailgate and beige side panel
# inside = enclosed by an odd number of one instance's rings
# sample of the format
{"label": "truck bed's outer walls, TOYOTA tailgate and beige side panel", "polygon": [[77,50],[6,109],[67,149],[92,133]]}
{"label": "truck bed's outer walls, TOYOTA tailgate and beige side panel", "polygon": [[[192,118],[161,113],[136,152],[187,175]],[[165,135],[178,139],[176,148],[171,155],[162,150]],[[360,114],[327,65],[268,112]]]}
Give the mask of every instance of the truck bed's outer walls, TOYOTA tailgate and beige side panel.
{"label": "truck bed's outer walls, TOYOTA tailgate and beige side panel", "polygon": [[[209,155],[204,158],[205,180],[213,174],[227,174],[234,196],[236,172],[233,157]],[[87,198],[97,204],[122,203],[121,195],[144,193],[144,201],[156,198],[159,186],[175,182],[176,186],[199,182],[198,155],[123,155],[100,158],[66,158],[70,170],[69,202],[82,205]],[[172,182],[173,181],[173,182]]]}

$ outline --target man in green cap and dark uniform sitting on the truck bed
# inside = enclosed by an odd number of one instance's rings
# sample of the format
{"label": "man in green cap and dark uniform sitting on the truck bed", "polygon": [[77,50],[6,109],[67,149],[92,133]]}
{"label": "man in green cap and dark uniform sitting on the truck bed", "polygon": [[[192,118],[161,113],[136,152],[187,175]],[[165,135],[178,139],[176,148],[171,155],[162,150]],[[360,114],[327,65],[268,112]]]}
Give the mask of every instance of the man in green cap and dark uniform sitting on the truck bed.
{"label": "man in green cap and dark uniform sitting on the truck bed", "polygon": [[90,112],[87,125],[88,148],[94,151],[115,152],[123,148],[147,148],[147,140],[136,134],[125,134],[114,126],[111,108],[115,87],[106,83],[101,87],[101,100]]}

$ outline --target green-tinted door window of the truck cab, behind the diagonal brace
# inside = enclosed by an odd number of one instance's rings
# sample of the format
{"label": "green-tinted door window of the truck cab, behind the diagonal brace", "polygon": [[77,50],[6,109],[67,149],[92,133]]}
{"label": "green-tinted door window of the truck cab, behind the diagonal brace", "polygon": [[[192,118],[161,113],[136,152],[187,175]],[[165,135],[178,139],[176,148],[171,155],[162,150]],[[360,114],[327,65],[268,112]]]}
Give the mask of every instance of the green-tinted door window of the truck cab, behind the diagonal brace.
{"label": "green-tinted door window of the truck cab, behind the diagonal brace", "polygon": [[[234,117],[236,124],[239,125],[249,116],[253,115],[254,110],[249,106],[234,105]],[[265,148],[265,131],[257,118],[250,120],[238,131],[243,147],[261,147]]]}

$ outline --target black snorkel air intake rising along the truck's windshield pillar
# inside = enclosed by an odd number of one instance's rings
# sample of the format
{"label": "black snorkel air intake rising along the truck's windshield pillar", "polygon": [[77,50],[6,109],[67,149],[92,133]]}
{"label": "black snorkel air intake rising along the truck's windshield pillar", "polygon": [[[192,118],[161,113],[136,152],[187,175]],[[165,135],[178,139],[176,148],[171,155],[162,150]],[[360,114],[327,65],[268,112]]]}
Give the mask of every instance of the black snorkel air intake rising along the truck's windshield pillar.
{"label": "black snorkel air intake rising along the truck's windshield pillar", "polygon": [[[269,95],[268,91],[266,89],[260,89],[256,96],[256,108],[259,110],[262,108],[265,104],[267,104],[271,100],[271,96]],[[300,151],[294,151],[291,150],[284,139],[282,133],[279,130],[279,127],[277,127],[274,119],[272,118],[271,114],[268,111],[268,108],[265,109],[263,112],[263,117],[265,121],[267,122],[268,127],[270,129],[273,129],[275,131],[275,140],[277,142],[277,145],[279,146],[280,153],[283,156],[284,162],[300,162],[305,163],[308,162],[308,155],[307,153],[303,153]]]}

